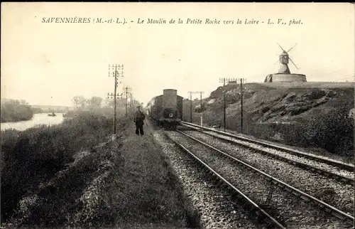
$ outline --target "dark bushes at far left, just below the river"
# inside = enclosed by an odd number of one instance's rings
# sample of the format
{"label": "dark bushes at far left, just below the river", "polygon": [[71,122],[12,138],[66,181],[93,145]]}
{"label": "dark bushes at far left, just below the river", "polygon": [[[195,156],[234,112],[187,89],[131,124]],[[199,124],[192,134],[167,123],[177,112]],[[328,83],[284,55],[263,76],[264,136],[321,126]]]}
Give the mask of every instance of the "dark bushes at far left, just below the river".
{"label": "dark bushes at far left, just below the river", "polygon": [[13,213],[23,194],[72,161],[76,151],[90,149],[111,132],[112,119],[82,113],[53,127],[1,132],[1,218]]}

